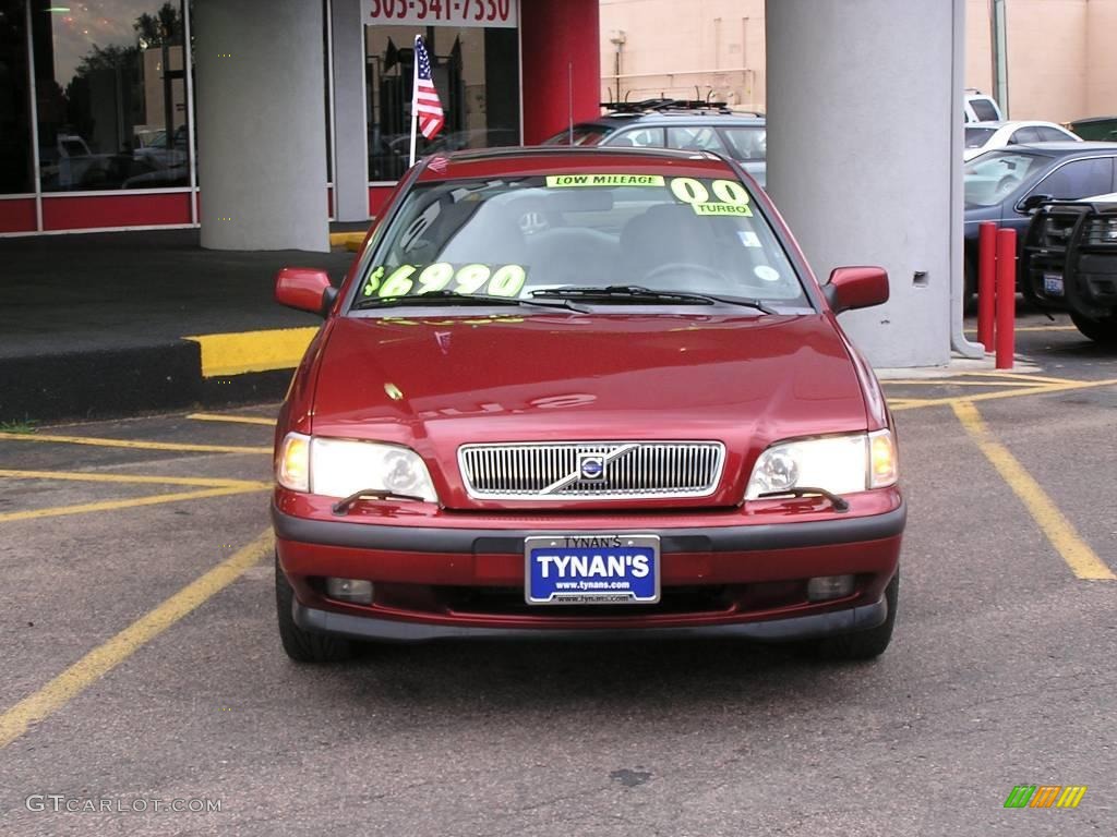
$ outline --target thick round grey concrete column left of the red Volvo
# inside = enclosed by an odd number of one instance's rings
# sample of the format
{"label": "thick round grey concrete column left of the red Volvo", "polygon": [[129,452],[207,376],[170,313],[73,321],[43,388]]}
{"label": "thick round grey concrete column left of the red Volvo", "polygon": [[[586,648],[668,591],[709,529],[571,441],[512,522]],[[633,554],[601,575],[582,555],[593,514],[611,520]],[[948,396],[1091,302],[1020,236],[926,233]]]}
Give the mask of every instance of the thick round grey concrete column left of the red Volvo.
{"label": "thick round grey concrete column left of the red Volvo", "polygon": [[202,247],[330,249],[321,2],[194,3]]}

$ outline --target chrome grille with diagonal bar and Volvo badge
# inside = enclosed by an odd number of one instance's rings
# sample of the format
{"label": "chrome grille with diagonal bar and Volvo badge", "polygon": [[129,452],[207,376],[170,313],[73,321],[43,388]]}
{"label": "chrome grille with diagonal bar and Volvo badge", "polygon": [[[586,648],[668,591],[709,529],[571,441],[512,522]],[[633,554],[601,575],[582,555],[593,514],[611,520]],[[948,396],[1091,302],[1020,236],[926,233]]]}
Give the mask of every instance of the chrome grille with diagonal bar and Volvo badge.
{"label": "chrome grille with diagonal bar and Volvo badge", "polygon": [[[603,474],[586,479],[584,460]],[[538,442],[470,444],[458,450],[466,491],[478,500],[631,500],[713,494],[722,479],[720,442]]]}

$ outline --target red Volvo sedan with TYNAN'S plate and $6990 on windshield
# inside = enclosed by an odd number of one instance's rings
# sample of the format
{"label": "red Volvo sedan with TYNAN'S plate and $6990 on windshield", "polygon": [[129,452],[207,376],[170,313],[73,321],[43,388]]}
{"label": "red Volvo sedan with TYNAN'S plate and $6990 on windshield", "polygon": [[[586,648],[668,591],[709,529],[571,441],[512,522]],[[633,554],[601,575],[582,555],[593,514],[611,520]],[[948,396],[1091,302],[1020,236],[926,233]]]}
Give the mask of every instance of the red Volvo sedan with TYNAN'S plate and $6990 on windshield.
{"label": "red Volvo sedan with TYNAN'S plate and $6990 on windshield", "polygon": [[324,314],[275,439],[287,654],[352,641],[704,633],[885,651],[895,430],[738,164],[637,148],[420,161]]}

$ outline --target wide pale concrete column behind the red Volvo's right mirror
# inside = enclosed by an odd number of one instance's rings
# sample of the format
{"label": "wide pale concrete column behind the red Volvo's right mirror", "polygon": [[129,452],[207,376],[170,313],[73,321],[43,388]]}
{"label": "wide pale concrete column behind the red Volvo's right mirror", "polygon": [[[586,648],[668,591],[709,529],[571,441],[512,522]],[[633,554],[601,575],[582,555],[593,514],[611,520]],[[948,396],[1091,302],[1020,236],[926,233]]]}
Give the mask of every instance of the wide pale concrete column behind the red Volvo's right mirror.
{"label": "wide pale concrete column behind the red Volvo's right mirror", "polygon": [[891,300],[841,317],[878,367],[951,356],[961,13],[910,0],[766,4],[767,191],[820,281],[843,264],[888,270]]}

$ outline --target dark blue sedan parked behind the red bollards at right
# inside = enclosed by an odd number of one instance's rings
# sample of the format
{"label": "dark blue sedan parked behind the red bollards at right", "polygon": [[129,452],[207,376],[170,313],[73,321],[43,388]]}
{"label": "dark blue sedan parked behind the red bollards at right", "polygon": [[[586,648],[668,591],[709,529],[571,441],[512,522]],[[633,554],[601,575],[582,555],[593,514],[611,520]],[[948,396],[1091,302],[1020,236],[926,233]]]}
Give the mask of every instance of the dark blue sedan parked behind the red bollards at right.
{"label": "dark blue sedan parked behind the red bollards at right", "polygon": [[1113,192],[1115,158],[1117,143],[1068,142],[1013,145],[966,163],[967,295],[977,288],[977,233],[983,221],[1016,230],[1022,248],[1031,212],[1042,203]]}

